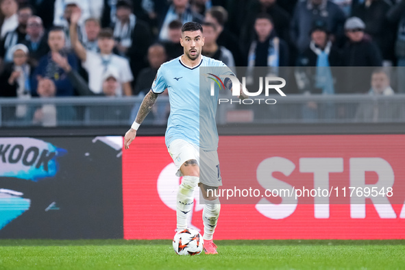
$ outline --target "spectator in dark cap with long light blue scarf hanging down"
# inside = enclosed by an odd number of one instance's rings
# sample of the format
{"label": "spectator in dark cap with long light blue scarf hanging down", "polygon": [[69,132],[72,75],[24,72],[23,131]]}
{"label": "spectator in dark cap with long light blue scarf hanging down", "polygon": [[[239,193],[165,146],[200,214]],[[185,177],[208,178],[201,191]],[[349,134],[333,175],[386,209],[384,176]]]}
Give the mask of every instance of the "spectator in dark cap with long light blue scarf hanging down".
{"label": "spectator in dark cap with long light blue scarf hanging down", "polygon": [[[340,53],[329,39],[325,21],[315,21],[310,32],[310,45],[297,61],[297,86],[304,95],[335,93],[335,80],[331,66],[339,66]],[[302,107],[302,118],[306,121],[315,119],[333,119],[334,104],[310,101]]]}

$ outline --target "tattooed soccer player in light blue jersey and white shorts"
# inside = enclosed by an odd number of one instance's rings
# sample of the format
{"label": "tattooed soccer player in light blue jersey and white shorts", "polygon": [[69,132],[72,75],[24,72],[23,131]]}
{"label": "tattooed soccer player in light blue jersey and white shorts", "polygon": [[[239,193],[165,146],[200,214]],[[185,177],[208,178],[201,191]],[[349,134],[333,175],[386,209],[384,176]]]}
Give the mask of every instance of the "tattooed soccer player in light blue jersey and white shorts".
{"label": "tattooed soccer player in light blue jersey and white shorts", "polygon": [[[212,242],[212,235],[217,226],[221,205],[219,199],[214,196],[217,193],[212,191],[222,185],[217,154],[218,133],[215,125],[218,89],[212,97],[214,101],[201,102],[200,97],[210,98],[208,96],[210,88],[200,89],[199,68],[200,66],[226,68],[226,66],[218,60],[201,56],[204,36],[199,23],[185,23],[180,42],[184,47],[184,54],[160,66],[132,127],[125,134],[124,145],[125,149],[130,147],[139,125],[154,106],[158,95],[167,88],[171,111],[165,140],[169,154],[178,169],[176,175],[183,176],[177,193],[177,231],[187,228],[187,214],[193,209],[193,193],[199,186],[204,198],[204,251],[206,254],[217,254],[217,245]],[[233,74],[230,69],[228,71],[224,75]],[[204,113],[200,115],[200,112]],[[204,140],[202,138],[200,140],[200,119],[201,125],[207,129],[207,132],[204,132]],[[204,158],[200,158],[200,154]],[[200,165],[204,167],[201,170],[204,177],[201,178]]]}

